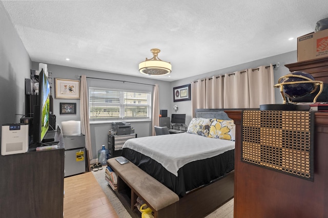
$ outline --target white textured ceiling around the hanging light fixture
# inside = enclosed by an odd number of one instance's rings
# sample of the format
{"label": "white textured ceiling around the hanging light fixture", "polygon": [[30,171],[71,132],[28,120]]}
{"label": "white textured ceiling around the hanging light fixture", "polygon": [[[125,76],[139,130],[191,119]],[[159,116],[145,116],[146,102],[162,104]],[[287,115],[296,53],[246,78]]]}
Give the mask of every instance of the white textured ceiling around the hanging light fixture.
{"label": "white textured ceiling around the hanging light fixture", "polygon": [[[327,0],[2,1],[32,61],[174,81],[297,49],[328,17]],[[293,40],[288,40],[294,37]],[[66,58],[70,58],[67,61]]]}

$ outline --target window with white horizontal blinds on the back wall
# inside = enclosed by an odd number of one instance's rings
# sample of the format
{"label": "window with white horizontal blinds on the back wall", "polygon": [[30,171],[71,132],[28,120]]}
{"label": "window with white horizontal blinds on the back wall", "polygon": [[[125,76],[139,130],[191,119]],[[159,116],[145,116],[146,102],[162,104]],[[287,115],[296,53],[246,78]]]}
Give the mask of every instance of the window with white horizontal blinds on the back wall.
{"label": "window with white horizontal blinds on the back wall", "polygon": [[90,119],[151,118],[151,93],[89,88]]}

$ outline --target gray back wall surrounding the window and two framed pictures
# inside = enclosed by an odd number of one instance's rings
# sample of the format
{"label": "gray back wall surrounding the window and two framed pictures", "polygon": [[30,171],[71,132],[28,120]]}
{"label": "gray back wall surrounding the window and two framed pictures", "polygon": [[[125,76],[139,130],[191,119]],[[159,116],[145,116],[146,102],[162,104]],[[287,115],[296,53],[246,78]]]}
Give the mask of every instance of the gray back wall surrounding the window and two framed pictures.
{"label": "gray back wall surrounding the window and two framed pictures", "polygon": [[[37,70],[39,66],[38,62],[32,63],[32,69]],[[171,98],[167,95],[167,93],[171,93],[170,82],[160,81],[142,77],[133,77],[127,75],[113,74],[113,73],[105,73],[99,71],[92,70],[83,70],[78,68],[71,68],[65,66],[58,66],[54,64],[47,63],[48,71],[52,72],[53,78],[63,78],[63,79],[79,79],[78,75],[86,75],[87,77],[94,78],[102,78],[102,79],[87,79],[88,86],[100,87],[100,88],[109,88],[109,89],[127,89],[127,90],[136,90],[136,91],[150,91],[153,90],[153,85],[142,85],[136,83],[129,82],[119,82],[119,81],[110,81],[111,80],[124,80],[138,83],[146,83],[146,84],[158,84],[159,86],[159,106],[161,109],[166,109],[171,103]],[[53,81],[53,86],[54,86]],[[54,114],[56,115],[56,123],[61,126],[62,121],[68,120],[80,120],[80,100],[76,99],[56,99],[54,95],[54,87],[51,89],[51,93],[53,95],[53,107]],[[59,113],[59,103],[60,102],[75,102],[76,103],[76,115],[60,115]],[[107,145],[107,135],[108,131],[111,129],[111,122],[107,123],[97,123],[91,124],[91,143],[92,143],[92,154],[93,159],[96,158],[97,150],[101,148],[101,145]],[[150,136],[152,131],[152,122],[130,122],[131,125],[135,129],[135,133],[138,137]]]}

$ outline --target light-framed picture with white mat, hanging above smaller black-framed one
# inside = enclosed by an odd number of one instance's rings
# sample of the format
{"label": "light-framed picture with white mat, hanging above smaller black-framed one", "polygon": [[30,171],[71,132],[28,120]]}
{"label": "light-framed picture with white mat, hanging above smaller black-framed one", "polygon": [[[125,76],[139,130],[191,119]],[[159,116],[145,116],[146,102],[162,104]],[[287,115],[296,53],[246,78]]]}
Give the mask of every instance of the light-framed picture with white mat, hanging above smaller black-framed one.
{"label": "light-framed picture with white mat, hanging above smaller black-framed one", "polygon": [[55,78],[55,98],[80,99],[80,81]]}

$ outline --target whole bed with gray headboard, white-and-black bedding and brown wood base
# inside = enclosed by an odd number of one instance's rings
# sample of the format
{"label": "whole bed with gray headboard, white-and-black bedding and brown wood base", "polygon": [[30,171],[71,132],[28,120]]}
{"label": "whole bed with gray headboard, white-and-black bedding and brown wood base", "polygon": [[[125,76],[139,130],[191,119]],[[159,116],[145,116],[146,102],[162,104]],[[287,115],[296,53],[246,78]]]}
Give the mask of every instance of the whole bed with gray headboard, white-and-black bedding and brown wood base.
{"label": "whole bed with gray headboard, white-and-black bedding and brown wood base", "polygon": [[[231,120],[215,109],[198,109],[196,117]],[[178,194],[180,215],[201,217],[233,197],[234,147],[233,140],[182,133],[130,139],[122,156]]]}

